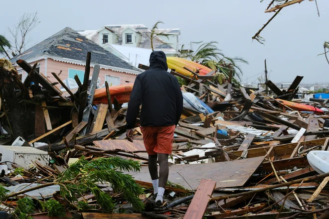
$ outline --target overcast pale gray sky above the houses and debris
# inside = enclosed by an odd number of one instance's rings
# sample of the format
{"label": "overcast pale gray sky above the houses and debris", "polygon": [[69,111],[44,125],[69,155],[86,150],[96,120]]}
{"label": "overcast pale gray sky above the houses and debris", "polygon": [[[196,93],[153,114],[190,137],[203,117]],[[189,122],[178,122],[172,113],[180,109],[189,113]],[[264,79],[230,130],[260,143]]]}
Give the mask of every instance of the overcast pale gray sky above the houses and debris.
{"label": "overcast pale gray sky above the houses and debris", "polygon": [[[0,34],[10,38],[12,26],[24,12],[38,11],[40,24],[30,32],[32,45],[65,27],[93,30],[108,24],[145,24],[180,28],[180,42],[217,41],[226,56],[245,58],[242,83],[254,82],[264,72],[270,79],[302,83],[329,82],[329,65],[323,53],[329,41],[329,0],[305,0],[281,10],[263,30],[265,45],[251,37],[273,13],[264,13],[270,0],[1,0]],[[4,9],[6,8],[6,9]],[[30,47],[29,46],[29,47]],[[258,74],[258,75],[257,75]]]}

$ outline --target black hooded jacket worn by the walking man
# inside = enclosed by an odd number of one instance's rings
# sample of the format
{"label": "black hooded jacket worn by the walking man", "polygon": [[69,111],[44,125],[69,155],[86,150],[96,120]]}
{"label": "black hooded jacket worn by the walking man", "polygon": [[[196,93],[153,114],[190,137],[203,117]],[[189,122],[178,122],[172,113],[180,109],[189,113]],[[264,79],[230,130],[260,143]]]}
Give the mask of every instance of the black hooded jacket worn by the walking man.
{"label": "black hooded jacket worn by the walking man", "polygon": [[178,80],[167,72],[165,53],[154,51],[150,69],[136,77],[126,115],[127,128],[135,126],[141,109],[142,126],[177,125],[183,110],[183,97]]}

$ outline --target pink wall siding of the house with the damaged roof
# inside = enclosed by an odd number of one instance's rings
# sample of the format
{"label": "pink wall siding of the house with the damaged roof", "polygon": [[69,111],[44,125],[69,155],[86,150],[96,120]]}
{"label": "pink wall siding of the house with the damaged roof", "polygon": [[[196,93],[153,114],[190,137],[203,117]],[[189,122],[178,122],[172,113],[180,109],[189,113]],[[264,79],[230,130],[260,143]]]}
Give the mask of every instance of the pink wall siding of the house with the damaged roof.
{"label": "pink wall siding of the house with the damaged roof", "polygon": [[[81,70],[84,71],[85,70],[85,66],[82,65],[76,65],[76,64],[71,64],[71,63],[65,63],[65,62],[59,62],[59,61],[55,61],[51,58],[47,59],[47,72],[45,72],[45,65],[44,65],[45,60],[40,60],[38,61],[38,63],[40,64],[40,73],[42,73],[43,75],[46,75],[47,78],[51,81],[51,82],[57,82],[57,80],[55,79],[55,77],[51,74],[52,72],[59,74],[60,71],[61,74],[59,75],[59,78],[61,80],[65,80],[68,78],[68,70],[69,69],[75,69],[75,70]],[[30,63],[30,65],[34,65],[34,63]],[[17,71],[21,69],[20,67],[17,68]],[[90,68],[90,76],[92,76],[94,71],[94,68],[91,67]],[[23,74],[27,73],[25,71],[23,71]],[[121,85],[126,85],[126,84],[132,84],[135,82],[135,79],[137,77],[137,75],[133,75],[133,74],[128,74],[125,72],[116,72],[113,70],[105,70],[105,69],[101,69],[99,72],[99,78],[101,80],[101,84],[103,85],[105,83],[105,75],[110,75],[110,76],[114,76],[114,77],[119,77],[120,78],[120,84]],[[57,87],[61,87],[60,84],[57,85]]]}

